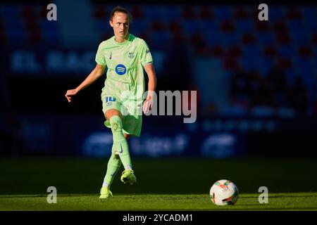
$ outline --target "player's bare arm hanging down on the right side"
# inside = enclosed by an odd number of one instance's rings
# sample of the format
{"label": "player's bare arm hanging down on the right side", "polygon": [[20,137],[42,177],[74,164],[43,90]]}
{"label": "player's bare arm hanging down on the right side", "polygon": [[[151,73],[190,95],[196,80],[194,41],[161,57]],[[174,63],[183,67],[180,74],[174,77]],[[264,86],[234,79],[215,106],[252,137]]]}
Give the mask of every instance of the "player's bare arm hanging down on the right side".
{"label": "player's bare arm hanging down on the right side", "polygon": [[149,77],[147,99],[144,101],[144,104],[143,104],[143,113],[147,114],[149,113],[149,110],[151,110],[153,101],[154,101],[153,96],[155,94],[155,89],[156,89],[156,73],[154,70],[153,63],[144,65],[144,70],[145,72],[147,72],[147,77]]}

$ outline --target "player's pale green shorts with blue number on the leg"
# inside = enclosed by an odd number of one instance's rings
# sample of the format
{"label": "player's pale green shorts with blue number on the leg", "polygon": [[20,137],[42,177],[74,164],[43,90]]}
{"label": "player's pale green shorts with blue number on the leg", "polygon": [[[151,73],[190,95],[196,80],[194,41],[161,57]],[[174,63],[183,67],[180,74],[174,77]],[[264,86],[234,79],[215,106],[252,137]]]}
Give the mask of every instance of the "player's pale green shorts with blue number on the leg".
{"label": "player's pale green shorts with blue number on the leg", "polygon": [[[131,136],[140,136],[142,129],[142,103],[121,101],[117,96],[108,95],[104,92],[101,94],[101,101],[104,115],[110,109],[118,110],[123,115],[123,133]],[[111,124],[107,119],[104,124],[106,127],[111,128]]]}

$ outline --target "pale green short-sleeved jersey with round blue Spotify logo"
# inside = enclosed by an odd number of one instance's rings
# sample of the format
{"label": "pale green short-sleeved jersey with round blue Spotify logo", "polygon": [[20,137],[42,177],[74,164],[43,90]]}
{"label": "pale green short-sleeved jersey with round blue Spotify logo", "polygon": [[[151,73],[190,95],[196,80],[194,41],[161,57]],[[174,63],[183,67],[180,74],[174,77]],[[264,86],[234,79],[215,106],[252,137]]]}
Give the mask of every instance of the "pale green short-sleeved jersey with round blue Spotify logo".
{"label": "pale green short-sleeved jersey with round blue Spotify logo", "polygon": [[143,67],[153,62],[143,39],[129,34],[127,41],[119,43],[113,36],[99,44],[95,60],[108,69],[102,89],[104,94],[116,96],[120,101],[125,101],[124,98],[140,100],[143,97]]}

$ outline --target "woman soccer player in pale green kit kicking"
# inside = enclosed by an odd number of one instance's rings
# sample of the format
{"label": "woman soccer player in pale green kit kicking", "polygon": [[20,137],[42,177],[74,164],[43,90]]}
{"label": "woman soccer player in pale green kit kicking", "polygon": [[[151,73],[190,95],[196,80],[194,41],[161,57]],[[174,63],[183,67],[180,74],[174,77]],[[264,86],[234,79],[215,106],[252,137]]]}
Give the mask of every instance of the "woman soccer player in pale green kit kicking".
{"label": "woman soccer player in pale green kit kicking", "polygon": [[[132,21],[130,13],[120,6],[113,8],[109,23],[114,36],[99,44],[96,54],[96,68],[76,89],[68,90],[66,98],[72,101],[78,91],[94,83],[107,68],[106,81],[101,91],[102,110],[106,117],[104,124],[111,128],[113,146],[108,161],[106,176],[100,191],[100,198],[112,196],[110,191],[113,178],[121,163],[125,170],[120,178],[124,184],[137,181],[128,148],[130,136],[139,136],[142,128],[142,110],[149,113],[156,88],[156,74],[153,59],[147,43],[129,34]],[[144,75],[149,77],[147,99],[143,103]],[[142,105],[143,103],[143,105]]]}

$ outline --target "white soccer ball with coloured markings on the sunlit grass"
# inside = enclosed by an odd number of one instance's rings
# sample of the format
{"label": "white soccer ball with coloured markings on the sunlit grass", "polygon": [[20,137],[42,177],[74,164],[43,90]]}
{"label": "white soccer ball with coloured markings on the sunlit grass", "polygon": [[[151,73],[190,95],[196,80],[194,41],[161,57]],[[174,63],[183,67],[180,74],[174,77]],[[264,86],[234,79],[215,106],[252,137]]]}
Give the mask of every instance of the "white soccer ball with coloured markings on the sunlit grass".
{"label": "white soccer ball with coloured markings on the sunlit grass", "polygon": [[211,186],[209,196],[216,205],[234,205],[238,198],[237,186],[228,180],[216,181]]}

